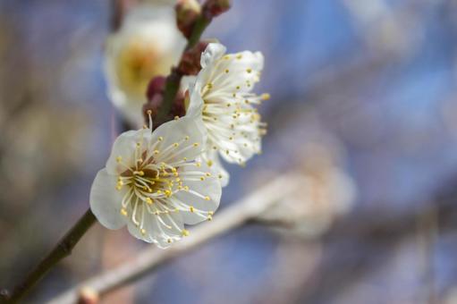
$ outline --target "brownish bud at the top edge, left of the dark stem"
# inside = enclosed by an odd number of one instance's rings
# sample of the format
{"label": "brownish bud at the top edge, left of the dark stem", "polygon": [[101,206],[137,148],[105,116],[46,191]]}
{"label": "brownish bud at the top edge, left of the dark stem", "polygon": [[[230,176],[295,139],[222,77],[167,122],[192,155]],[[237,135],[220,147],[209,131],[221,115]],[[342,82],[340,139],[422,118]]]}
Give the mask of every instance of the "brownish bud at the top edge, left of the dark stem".
{"label": "brownish bud at the top edge, left of the dark stem", "polygon": [[197,0],[179,0],[174,9],[178,29],[181,30],[184,37],[190,38],[195,21],[201,13],[199,2]]}

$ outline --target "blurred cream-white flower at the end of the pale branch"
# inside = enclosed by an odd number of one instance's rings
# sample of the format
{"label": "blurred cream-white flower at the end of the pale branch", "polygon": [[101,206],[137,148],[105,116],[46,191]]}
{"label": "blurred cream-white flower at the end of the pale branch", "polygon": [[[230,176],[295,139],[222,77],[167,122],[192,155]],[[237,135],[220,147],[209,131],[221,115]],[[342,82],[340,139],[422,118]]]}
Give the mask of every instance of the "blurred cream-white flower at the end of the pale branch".
{"label": "blurred cream-white flower at the end of the pale branch", "polygon": [[351,177],[336,164],[329,147],[310,143],[300,150],[299,157],[295,170],[301,173],[302,186],[259,219],[285,224],[290,228],[287,231],[296,235],[314,237],[351,210],[357,191]]}

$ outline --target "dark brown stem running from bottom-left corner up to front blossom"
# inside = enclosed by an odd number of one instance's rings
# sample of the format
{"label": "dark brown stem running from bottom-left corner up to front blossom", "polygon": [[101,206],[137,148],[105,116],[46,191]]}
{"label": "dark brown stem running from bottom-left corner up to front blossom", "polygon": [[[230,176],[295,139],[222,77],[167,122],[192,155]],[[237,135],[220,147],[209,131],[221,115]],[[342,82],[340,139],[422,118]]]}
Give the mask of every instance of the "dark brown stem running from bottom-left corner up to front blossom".
{"label": "dark brown stem running from bottom-left corner up to front blossom", "polygon": [[80,241],[80,238],[86,233],[96,221],[95,215],[90,209],[80,217],[80,220],[74,224],[72,229],[67,232],[63,238],[55,245],[55,248],[49,252],[38,266],[35,267],[25,279],[16,285],[11,294],[3,292],[0,295],[2,303],[17,303],[37,284],[47,272],[54,267],[61,259],[72,254],[72,249]]}

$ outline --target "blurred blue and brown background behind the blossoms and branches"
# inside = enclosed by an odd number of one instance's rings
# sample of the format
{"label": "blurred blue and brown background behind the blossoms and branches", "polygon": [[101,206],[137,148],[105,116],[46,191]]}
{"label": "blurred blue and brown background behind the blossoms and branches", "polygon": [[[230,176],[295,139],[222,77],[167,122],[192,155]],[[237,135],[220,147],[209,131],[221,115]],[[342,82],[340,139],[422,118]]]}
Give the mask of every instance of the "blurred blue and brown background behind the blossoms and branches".
{"label": "blurred blue and brown background behind the blossoms and branches", "polygon": [[[0,0],[0,286],[87,209],[121,120],[106,95],[112,3]],[[457,1],[233,0],[205,33],[266,57],[263,154],[221,209],[304,174],[272,212],[103,303],[457,303]],[[217,216],[217,214],[216,214]],[[148,244],[96,224],[26,302]]]}

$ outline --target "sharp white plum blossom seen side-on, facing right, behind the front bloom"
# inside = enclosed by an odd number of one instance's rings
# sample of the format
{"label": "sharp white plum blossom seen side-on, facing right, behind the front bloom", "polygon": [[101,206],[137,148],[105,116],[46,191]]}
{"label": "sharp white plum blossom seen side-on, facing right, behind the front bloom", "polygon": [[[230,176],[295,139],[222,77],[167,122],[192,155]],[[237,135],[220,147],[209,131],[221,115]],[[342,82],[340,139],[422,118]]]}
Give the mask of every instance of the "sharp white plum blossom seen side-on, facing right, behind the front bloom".
{"label": "sharp white plum blossom seen side-on, facing right, behind the front bloom", "polygon": [[260,122],[255,105],[268,95],[258,96],[251,91],[260,78],[264,57],[249,51],[225,55],[224,46],[210,43],[200,65],[195,84],[190,86],[187,114],[203,122],[207,131],[203,159],[222,178],[224,186],[228,173],[219,155],[228,163],[243,165],[261,150],[265,123]]}

